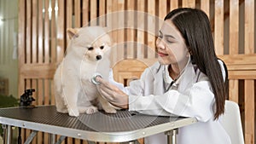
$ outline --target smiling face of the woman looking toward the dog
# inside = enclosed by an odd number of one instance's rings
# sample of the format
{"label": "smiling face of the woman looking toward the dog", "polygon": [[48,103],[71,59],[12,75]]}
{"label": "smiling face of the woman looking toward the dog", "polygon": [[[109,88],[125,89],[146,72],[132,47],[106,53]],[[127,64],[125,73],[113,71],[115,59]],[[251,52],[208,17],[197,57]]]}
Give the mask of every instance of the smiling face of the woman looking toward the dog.
{"label": "smiling face of the woman looking toward the dog", "polygon": [[156,40],[158,60],[162,65],[184,65],[189,52],[181,33],[171,20],[165,20]]}

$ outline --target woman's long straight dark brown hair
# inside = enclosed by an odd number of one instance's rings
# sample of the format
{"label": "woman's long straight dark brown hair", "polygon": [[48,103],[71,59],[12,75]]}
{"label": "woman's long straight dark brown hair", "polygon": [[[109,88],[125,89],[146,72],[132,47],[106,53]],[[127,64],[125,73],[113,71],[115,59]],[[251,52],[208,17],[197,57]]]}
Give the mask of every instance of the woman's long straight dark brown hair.
{"label": "woman's long straight dark brown hair", "polygon": [[[172,20],[172,23],[181,32],[193,62],[209,78],[216,104],[214,119],[217,119],[224,113],[227,89],[215,54],[207,14],[200,9],[174,9],[166,15],[165,20]],[[227,76],[225,81],[227,81]]]}

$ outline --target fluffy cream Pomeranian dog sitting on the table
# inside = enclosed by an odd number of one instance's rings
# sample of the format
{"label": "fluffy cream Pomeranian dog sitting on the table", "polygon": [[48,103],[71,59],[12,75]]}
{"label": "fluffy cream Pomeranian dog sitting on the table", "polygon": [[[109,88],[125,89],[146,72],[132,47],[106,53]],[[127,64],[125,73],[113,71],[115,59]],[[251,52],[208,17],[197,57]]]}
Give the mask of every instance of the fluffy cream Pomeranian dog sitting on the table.
{"label": "fluffy cream Pomeranian dog sitting on the table", "polygon": [[[100,26],[68,29],[71,38],[67,55],[55,71],[55,107],[74,117],[91,114],[102,107],[105,112],[116,109],[104,100],[91,82],[96,72],[108,80],[111,39]],[[99,105],[100,104],[100,105]]]}

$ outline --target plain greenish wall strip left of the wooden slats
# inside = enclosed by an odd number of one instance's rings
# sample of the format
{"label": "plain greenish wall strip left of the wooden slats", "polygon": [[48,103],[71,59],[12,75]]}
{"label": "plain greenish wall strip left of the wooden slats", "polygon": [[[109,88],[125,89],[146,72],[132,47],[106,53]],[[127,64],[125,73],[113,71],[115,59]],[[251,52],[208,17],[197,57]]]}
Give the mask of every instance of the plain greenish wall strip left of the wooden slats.
{"label": "plain greenish wall strip left of the wooden slats", "polygon": [[8,78],[9,95],[18,96],[18,0],[0,0],[0,17],[0,78]]}

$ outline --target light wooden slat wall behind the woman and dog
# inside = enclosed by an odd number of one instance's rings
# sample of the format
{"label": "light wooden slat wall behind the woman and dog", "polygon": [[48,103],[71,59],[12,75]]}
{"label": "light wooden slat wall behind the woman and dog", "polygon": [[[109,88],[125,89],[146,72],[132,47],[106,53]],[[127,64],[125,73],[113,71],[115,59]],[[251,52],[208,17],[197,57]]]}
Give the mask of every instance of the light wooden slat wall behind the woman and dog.
{"label": "light wooden slat wall behind the woman and dog", "polygon": [[[65,55],[68,27],[107,26],[115,43],[113,66],[124,59],[147,65],[156,58],[154,43],[164,16],[180,7],[198,8],[209,16],[216,53],[228,66],[230,100],[241,107],[246,144],[254,144],[254,5],[254,0],[20,0],[19,95],[33,88],[36,105],[55,104],[52,78]],[[29,133],[22,130],[25,137]],[[32,143],[48,142],[49,134],[41,132]],[[62,143],[87,141],[67,138]]]}

